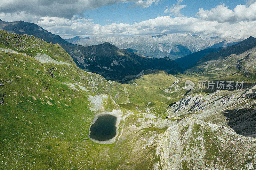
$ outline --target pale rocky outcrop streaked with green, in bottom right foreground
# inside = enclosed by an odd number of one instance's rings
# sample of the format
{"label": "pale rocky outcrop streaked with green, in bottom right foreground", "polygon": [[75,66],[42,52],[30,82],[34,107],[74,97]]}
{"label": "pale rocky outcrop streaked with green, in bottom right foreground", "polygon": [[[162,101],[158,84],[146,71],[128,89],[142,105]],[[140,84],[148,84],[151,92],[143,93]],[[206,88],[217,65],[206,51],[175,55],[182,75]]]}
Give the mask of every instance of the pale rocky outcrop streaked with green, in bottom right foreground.
{"label": "pale rocky outcrop streaked with green, in bottom right foreground", "polygon": [[159,135],[156,154],[163,169],[247,169],[256,166],[256,141],[189,118]]}

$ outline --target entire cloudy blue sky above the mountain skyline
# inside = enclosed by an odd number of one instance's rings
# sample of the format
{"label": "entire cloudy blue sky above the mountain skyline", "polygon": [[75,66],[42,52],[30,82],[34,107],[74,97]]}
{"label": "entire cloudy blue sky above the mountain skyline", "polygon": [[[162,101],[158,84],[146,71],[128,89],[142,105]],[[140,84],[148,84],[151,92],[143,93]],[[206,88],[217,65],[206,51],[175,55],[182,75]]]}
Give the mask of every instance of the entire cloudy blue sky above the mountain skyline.
{"label": "entire cloudy blue sky above the mountain skyline", "polygon": [[256,37],[256,0],[1,0],[3,21],[72,38],[190,33]]}

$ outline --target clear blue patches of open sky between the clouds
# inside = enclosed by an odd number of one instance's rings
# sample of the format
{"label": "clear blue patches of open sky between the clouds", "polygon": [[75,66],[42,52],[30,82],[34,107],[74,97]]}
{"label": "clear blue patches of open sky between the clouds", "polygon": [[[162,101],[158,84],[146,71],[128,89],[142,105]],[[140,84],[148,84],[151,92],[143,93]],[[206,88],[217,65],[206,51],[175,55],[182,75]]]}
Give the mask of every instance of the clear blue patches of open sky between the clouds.
{"label": "clear blue patches of open sky between the clouds", "polygon": [[[134,24],[135,22],[140,22],[148,20],[150,18],[156,18],[159,16],[165,16],[164,10],[166,6],[171,6],[177,3],[176,0],[165,0],[159,2],[157,5],[153,4],[148,8],[129,8],[132,3],[118,3],[114,5],[102,6],[95,10],[87,10],[84,13],[85,18],[91,18],[95,23],[100,25],[106,25],[111,22],[116,23],[128,23]],[[246,1],[241,0],[231,0],[231,1],[204,1],[204,0],[183,0],[181,4],[186,4],[187,6],[180,10],[181,14],[187,17],[195,17],[198,9],[204,8],[211,9],[220,4],[226,4],[230,9],[234,9],[236,5],[245,4]],[[111,21],[106,21],[106,20]]]}

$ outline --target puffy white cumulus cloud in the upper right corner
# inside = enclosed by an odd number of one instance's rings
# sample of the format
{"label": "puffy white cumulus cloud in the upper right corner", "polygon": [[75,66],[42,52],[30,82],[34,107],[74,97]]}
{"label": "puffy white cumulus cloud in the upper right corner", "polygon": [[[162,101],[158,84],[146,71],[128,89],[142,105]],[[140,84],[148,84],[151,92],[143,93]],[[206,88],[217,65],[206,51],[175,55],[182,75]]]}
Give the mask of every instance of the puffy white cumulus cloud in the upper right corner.
{"label": "puffy white cumulus cloud in the upper right corner", "polygon": [[[199,9],[196,16],[209,21],[218,22],[240,22],[256,20],[256,2],[248,1],[249,6],[237,5],[234,10],[229,9],[225,4],[218,5],[211,10]],[[253,3],[254,2],[254,3]]]}

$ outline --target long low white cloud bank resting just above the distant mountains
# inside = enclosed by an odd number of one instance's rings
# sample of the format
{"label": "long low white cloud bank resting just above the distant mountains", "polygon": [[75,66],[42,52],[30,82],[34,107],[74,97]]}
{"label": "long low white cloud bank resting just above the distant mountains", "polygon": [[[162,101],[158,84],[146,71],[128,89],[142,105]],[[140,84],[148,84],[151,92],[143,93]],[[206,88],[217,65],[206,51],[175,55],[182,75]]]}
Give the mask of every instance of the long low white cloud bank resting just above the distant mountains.
{"label": "long low white cloud bank resting just above the distant mountains", "polygon": [[71,19],[59,17],[32,17],[32,19],[34,19],[34,23],[42,26],[47,31],[58,34],[63,38],[71,38],[76,35],[142,35],[158,33],[191,33],[206,37],[234,38],[256,36],[256,21],[220,23],[193,17],[182,16],[172,18],[170,16],[162,16],[135,22],[131,25],[127,23],[111,23],[102,26],[94,23],[92,19],[76,16]]}

